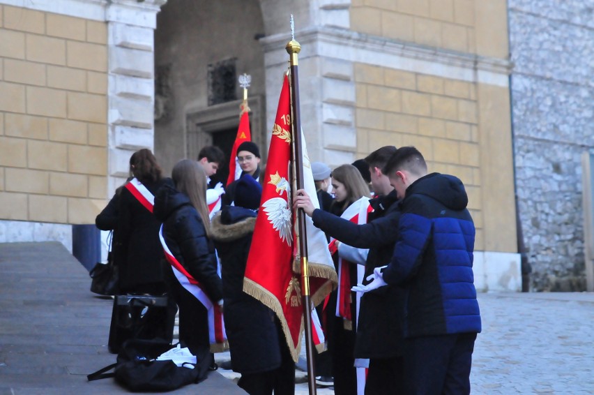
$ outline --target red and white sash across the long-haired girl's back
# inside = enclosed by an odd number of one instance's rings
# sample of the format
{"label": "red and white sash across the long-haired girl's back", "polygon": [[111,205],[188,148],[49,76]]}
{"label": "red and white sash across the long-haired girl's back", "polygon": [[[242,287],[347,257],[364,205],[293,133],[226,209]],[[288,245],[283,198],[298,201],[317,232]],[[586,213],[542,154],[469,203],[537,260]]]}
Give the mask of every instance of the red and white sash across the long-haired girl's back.
{"label": "red and white sash across the long-haired girl's back", "polygon": [[206,292],[202,289],[202,286],[188,271],[182,266],[182,264],[175,258],[172,252],[169,250],[167,244],[165,244],[165,238],[163,237],[163,225],[159,230],[159,239],[165,251],[165,258],[167,262],[172,265],[172,270],[177,278],[177,281],[181,284],[185,290],[188,290],[208,311],[208,337],[211,342],[211,352],[223,352],[229,348],[227,343],[227,334],[224,330],[223,313],[218,304],[213,304],[211,299],[208,298]]}

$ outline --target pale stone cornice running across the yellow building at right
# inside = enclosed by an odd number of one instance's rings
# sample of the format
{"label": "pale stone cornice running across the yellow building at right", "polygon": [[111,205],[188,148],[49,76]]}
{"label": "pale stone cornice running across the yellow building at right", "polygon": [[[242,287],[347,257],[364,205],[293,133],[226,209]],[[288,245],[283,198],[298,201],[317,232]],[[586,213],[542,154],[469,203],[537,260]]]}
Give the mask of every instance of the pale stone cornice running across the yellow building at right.
{"label": "pale stone cornice running across the yellow building at right", "polygon": [[[314,27],[296,32],[302,50],[300,59],[333,57],[374,66],[397,68],[439,77],[482,82],[508,87],[512,63],[508,59],[482,57],[443,48],[406,43],[391,38],[372,36],[347,29]],[[282,64],[287,60],[284,45],[288,34],[262,38],[266,65]]]}

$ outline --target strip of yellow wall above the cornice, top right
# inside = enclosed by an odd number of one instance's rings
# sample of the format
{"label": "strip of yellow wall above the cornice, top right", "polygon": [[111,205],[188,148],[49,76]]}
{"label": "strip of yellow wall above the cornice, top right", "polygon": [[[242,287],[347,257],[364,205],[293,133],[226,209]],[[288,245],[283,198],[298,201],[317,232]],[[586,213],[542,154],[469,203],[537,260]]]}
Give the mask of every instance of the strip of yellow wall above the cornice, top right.
{"label": "strip of yellow wall above the cornice, top right", "polygon": [[446,50],[508,57],[505,0],[352,0],[351,29]]}

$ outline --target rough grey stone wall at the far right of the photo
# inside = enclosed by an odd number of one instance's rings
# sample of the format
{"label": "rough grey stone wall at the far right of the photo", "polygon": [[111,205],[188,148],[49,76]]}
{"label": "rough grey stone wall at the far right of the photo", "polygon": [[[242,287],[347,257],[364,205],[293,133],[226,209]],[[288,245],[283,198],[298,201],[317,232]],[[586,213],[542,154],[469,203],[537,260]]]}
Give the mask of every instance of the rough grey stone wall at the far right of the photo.
{"label": "rough grey stone wall at the far right of the photo", "polygon": [[516,193],[531,289],[585,290],[580,157],[594,148],[594,1],[508,3]]}

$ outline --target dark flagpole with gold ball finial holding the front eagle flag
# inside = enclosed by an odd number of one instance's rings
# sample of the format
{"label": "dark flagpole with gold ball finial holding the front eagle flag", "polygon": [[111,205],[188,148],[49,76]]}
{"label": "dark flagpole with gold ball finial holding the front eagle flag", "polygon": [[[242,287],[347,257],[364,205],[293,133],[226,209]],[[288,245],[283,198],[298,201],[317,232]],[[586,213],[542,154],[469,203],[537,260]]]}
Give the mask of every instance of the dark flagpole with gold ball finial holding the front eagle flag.
{"label": "dark flagpole with gold ball finial holding the front eagle flag", "polygon": [[[291,131],[294,141],[294,170],[296,174],[297,189],[304,188],[303,181],[303,150],[301,145],[301,119],[299,109],[299,75],[298,57],[301,45],[295,40],[295,24],[291,15],[291,41],[285,47],[289,53],[291,64]],[[312,301],[310,299],[310,268],[307,262],[307,232],[305,230],[305,212],[297,210],[298,244],[301,264],[301,301],[303,303],[303,320],[305,326],[305,351],[307,355],[307,383],[310,395],[316,394],[316,378],[314,372],[314,343],[312,341]]]}

